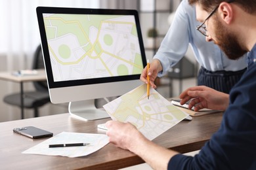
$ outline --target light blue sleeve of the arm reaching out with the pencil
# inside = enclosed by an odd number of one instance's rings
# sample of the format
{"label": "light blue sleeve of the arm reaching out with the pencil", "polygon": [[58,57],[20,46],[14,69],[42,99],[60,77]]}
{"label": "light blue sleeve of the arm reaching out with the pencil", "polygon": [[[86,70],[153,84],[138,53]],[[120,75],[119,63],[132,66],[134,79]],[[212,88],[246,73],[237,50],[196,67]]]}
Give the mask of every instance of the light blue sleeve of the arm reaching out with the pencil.
{"label": "light blue sleeve of the arm reaching out with the pencil", "polygon": [[188,12],[192,7],[187,1],[182,1],[175,12],[175,17],[171,23],[171,27],[167,31],[161,46],[154,56],[154,59],[159,59],[163,67],[163,71],[158,76],[163,76],[167,73],[170,67],[175,65],[186,53],[190,39],[188,33]]}

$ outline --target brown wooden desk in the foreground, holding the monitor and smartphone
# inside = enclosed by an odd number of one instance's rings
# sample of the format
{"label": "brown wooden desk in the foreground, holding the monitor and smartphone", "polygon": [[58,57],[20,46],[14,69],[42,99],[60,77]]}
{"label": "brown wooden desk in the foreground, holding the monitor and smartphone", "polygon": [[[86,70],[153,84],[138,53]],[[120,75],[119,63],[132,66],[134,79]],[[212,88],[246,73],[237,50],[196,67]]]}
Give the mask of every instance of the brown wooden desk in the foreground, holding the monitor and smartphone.
{"label": "brown wooden desk in the foreground, holding the monitor and smartphone", "polygon": [[[181,153],[199,150],[219,129],[222,118],[223,113],[215,113],[194,117],[192,121],[182,121],[153,142]],[[66,113],[0,123],[1,169],[119,169],[143,163],[139,156],[113,144],[79,158],[21,154],[48,138],[30,139],[12,132],[14,127],[35,126],[51,131],[54,135],[62,131],[105,133],[96,126],[107,120],[110,118],[85,122]]]}

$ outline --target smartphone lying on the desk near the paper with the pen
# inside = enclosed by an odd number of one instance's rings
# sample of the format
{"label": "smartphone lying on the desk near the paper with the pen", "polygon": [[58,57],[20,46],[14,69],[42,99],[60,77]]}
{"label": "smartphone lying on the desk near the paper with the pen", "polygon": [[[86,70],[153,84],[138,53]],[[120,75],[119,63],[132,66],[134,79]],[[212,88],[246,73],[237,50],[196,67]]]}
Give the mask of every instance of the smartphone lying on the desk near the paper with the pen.
{"label": "smartphone lying on the desk near the paper with the pen", "polygon": [[18,127],[18,128],[14,128],[13,131],[15,133],[19,133],[21,135],[24,135],[26,137],[30,137],[33,139],[53,136],[53,133],[51,133],[50,131],[45,131],[43,129],[39,129],[34,126]]}

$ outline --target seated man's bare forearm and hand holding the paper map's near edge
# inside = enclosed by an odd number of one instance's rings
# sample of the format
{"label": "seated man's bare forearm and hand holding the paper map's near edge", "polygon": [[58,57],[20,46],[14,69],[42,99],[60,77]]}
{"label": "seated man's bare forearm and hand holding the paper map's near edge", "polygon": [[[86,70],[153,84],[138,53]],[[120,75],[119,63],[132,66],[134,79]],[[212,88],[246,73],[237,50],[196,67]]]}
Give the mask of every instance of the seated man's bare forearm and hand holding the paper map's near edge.
{"label": "seated man's bare forearm and hand holding the paper map's near edge", "polygon": [[106,127],[108,127],[106,134],[109,137],[110,143],[137,154],[152,169],[167,169],[169,160],[178,154],[178,152],[152,143],[130,123],[110,120],[106,122]]}

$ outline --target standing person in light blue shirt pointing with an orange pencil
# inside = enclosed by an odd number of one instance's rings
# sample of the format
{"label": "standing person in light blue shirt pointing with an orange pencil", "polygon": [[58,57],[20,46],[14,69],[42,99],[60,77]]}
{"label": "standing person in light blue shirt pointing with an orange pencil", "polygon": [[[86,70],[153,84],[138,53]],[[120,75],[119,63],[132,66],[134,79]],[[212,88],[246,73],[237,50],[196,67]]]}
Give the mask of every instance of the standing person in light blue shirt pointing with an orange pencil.
{"label": "standing person in light blue shirt pointing with an orange pencil", "polygon": [[[156,88],[156,76],[163,76],[184,57],[188,44],[192,47],[194,56],[202,65],[198,73],[198,86],[204,85],[219,92],[229,93],[230,89],[240,80],[246,70],[246,55],[237,60],[228,59],[220,48],[213,42],[206,43],[204,36],[195,27],[196,9],[183,0],[175,12],[175,18],[161,42],[161,46],[150,64],[150,84]],[[203,27],[200,27],[202,30]],[[203,30],[202,30],[203,31]],[[147,71],[144,69],[140,76],[147,82]]]}

